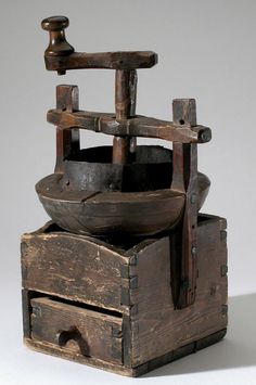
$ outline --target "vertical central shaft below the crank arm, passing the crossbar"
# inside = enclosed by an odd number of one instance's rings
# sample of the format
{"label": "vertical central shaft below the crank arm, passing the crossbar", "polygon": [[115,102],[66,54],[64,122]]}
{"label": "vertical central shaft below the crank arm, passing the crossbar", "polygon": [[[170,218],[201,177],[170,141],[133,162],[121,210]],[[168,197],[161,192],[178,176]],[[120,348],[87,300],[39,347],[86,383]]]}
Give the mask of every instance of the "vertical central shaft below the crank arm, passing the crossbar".
{"label": "vertical central shaft below the crank arm, passing the crossbar", "polygon": [[[136,69],[117,69],[115,79],[115,108],[117,121],[121,121],[136,115]],[[136,151],[136,138],[115,137],[113,141],[113,163],[126,164],[129,151]]]}

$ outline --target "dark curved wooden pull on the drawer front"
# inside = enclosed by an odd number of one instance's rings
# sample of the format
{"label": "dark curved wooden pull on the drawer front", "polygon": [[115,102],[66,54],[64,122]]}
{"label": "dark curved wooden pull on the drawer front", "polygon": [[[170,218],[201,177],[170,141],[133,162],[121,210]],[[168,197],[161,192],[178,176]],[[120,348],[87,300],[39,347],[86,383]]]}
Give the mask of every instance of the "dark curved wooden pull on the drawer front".
{"label": "dark curved wooden pull on the drawer front", "polygon": [[56,333],[57,345],[61,347],[65,346],[71,339],[77,343],[82,356],[90,357],[88,343],[76,326],[71,326],[68,330],[61,330]]}

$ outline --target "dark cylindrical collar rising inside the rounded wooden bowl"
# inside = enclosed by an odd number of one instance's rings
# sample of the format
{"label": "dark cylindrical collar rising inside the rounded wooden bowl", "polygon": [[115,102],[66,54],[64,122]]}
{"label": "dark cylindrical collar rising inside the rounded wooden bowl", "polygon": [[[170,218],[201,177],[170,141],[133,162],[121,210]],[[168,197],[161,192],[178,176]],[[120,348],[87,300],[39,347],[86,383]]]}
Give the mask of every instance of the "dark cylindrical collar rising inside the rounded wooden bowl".
{"label": "dark cylindrical collar rising inside the rounded wooden bowl", "polygon": [[[84,149],[64,162],[66,190],[140,192],[168,189],[171,151],[161,146],[137,146],[127,165],[111,163],[112,146]],[[66,178],[66,179],[65,179]]]}

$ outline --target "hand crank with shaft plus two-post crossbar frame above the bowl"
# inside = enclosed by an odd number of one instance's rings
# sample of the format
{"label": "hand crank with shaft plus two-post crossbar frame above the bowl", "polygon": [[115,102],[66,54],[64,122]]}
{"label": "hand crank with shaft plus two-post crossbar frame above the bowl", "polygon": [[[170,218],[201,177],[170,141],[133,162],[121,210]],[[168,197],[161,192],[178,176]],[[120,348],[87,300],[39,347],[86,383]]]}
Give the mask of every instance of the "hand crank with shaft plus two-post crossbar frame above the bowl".
{"label": "hand crank with shaft plus two-post crossbar frame above the bowl", "polygon": [[110,68],[116,70],[115,116],[78,110],[76,87],[57,88],[56,110],[48,113],[48,121],[56,129],[56,172],[62,171],[63,159],[79,149],[78,128],[114,136],[113,164],[125,165],[136,151],[136,137],[151,137],[174,142],[174,176],[171,190],[185,195],[182,228],[182,253],[176,307],[184,308],[195,300],[196,292],[196,221],[197,221],[197,150],[196,143],[210,140],[210,130],[196,125],[195,101],[175,100],[174,121],[136,116],[137,69],[150,68],[157,63],[151,51],[77,53],[66,41],[64,29],[67,17],[55,16],[42,21],[50,33],[44,52],[46,66],[64,75],[68,69]]}

